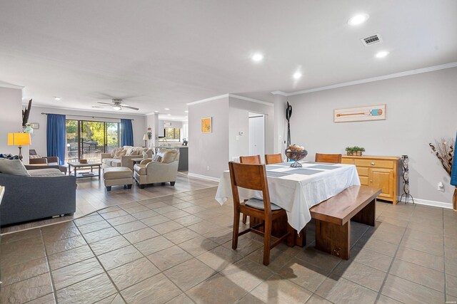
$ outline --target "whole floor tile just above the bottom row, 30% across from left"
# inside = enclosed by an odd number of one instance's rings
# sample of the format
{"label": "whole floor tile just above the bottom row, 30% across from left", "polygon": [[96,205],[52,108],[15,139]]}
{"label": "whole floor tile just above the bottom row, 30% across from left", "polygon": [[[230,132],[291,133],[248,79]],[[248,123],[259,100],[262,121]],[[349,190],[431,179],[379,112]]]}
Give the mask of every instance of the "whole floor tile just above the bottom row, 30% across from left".
{"label": "whole floor tile just above the bottom row, 30% across from left", "polygon": [[108,271],[108,274],[117,288],[119,288],[119,290],[124,290],[159,272],[159,269],[147,258],[140,258],[139,260],[114,268],[111,271]]}

